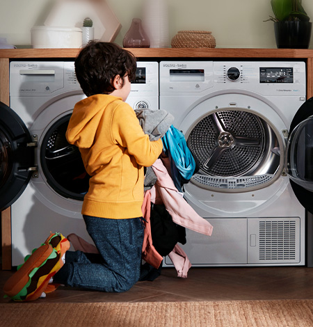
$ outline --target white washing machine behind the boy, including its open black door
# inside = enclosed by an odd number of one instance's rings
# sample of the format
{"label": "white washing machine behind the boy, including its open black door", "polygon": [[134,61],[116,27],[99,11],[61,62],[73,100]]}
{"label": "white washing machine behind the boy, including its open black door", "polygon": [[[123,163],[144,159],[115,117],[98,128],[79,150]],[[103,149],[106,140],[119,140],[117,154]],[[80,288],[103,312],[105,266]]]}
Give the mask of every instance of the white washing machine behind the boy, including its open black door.
{"label": "white washing machine behind the boy, including its open black door", "polygon": [[[159,64],[138,62],[127,102],[159,109]],[[90,239],[81,216],[89,176],[65,131],[83,95],[73,61],[12,61],[10,107],[1,104],[0,208],[11,206],[12,265],[50,231]]]}

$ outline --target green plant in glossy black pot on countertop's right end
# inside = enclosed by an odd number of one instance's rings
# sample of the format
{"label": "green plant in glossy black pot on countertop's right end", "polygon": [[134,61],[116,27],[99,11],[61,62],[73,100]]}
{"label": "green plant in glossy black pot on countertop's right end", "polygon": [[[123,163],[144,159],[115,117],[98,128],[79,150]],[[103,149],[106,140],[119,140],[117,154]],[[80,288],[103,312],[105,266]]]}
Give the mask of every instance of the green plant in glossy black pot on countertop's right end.
{"label": "green plant in glossy black pot on countertop's right end", "polygon": [[312,22],[301,0],[271,0],[275,17],[276,45],[278,48],[307,49],[310,45]]}

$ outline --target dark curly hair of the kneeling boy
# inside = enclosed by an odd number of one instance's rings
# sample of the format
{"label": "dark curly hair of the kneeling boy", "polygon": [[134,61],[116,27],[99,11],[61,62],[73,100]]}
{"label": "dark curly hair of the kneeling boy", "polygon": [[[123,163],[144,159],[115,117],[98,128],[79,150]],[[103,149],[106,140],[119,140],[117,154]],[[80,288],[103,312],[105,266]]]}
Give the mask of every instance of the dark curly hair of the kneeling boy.
{"label": "dark curly hair of the kneeling boy", "polygon": [[116,75],[135,79],[136,58],[131,52],[112,42],[90,41],[75,60],[75,73],[83,93],[90,97],[115,90]]}

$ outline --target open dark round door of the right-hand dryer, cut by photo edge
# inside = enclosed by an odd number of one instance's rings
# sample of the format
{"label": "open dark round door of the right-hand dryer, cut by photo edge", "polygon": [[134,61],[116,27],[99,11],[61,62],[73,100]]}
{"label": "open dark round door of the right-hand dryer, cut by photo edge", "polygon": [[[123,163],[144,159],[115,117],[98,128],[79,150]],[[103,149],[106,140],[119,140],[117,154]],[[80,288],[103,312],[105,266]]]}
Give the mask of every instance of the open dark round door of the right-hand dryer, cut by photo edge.
{"label": "open dark round door of the right-hand dryer, cut by photo edge", "polygon": [[285,169],[300,203],[313,213],[313,97],[291,122]]}

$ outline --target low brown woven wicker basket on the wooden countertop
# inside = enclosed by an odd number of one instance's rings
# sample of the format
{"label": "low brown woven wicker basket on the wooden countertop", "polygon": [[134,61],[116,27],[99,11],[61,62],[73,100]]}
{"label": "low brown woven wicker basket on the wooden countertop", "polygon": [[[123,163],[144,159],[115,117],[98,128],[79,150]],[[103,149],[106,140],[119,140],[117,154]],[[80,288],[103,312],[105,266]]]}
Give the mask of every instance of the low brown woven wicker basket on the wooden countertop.
{"label": "low brown woven wicker basket on the wooden countertop", "polygon": [[178,31],[171,45],[172,48],[215,48],[216,40],[208,31]]}

